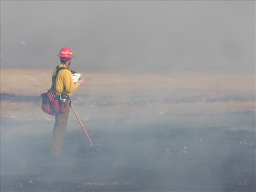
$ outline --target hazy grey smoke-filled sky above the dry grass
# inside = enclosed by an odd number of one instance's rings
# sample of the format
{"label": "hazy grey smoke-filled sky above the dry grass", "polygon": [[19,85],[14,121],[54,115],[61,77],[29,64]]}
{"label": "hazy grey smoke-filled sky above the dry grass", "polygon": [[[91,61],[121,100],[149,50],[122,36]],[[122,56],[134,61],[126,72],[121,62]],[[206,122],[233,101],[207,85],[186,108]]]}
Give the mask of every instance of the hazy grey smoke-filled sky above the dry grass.
{"label": "hazy grey smoke-filled sky above the dry grass", "polygon": [[1,67],[255,72],[255,1],[1,1]]}

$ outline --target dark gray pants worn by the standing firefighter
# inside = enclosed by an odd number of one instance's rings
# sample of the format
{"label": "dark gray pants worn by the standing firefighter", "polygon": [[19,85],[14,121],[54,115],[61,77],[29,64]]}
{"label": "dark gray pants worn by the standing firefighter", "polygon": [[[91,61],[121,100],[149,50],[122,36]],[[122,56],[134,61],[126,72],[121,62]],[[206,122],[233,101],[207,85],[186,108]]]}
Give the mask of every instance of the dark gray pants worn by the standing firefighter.
{"label": "dark gray pants worn by the standing firefighter", "polygon": [[65,133],[67,130],[67,124],[69,119],[69,112],[70,112],[70,100],[67,99],[66,101],[67,110],[65,113],[58,113],[55,115],[55,123],[53,129],[53,138],[52,138],[52,146],[50,148],[51,154],[61,154],[62,143],[65,137]]}

